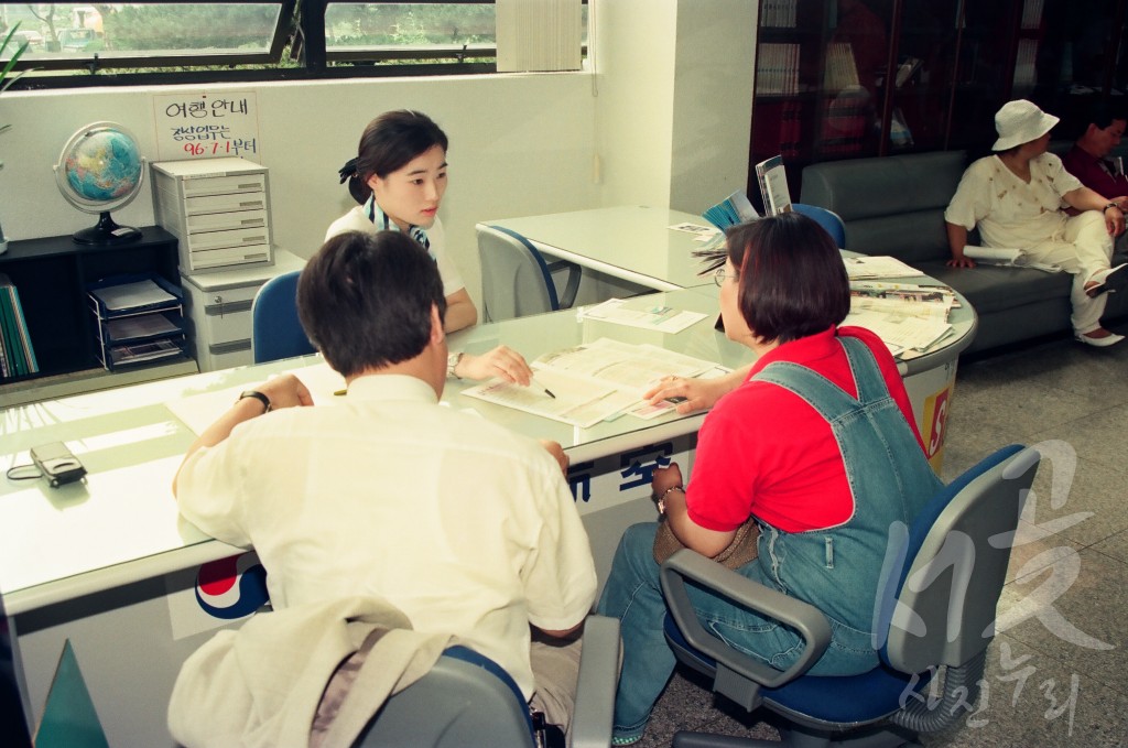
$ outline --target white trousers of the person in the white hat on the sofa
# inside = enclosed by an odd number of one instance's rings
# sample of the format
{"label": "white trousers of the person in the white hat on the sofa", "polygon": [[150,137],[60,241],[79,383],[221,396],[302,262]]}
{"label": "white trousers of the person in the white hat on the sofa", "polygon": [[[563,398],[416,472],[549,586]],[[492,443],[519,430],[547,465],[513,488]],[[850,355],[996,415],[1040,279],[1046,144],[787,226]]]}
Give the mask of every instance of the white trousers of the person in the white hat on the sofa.
{"label": "white trousers of the person in the white hat on the sofa", "polygon": [[1073,215],[1066,221],[1063,232],[1030,247],[1028,252],[1034,262],[1058,265],[1073,274],[1069,293],[1073,316],[1069,320],[1074,332],[1083,335],[1098,329],[1108,299],[1104,293],[1090,298],[1085,293],[1085,283],[1095,273],[1108,270],[1112,257],[1112,237],[1104,227],[1104,215],[1095,210]]}

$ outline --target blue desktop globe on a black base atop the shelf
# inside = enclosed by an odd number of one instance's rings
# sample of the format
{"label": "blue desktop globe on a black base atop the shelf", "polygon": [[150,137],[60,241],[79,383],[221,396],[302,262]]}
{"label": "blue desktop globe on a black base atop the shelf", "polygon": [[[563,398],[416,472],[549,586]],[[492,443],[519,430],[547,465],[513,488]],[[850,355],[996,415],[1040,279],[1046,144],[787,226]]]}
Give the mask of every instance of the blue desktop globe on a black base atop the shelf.
{"label": "blue desktop globe on a black base atop the shelf", "polygon": [[76,241],[122,244],[141,238],[141,231],[118,226],[109,215],[136,197],[144,183],[144,158],[129,130],[114,122],[86,125],[63,146],[54,169],[67,202],[99,215],[96,226],[74,232]]}

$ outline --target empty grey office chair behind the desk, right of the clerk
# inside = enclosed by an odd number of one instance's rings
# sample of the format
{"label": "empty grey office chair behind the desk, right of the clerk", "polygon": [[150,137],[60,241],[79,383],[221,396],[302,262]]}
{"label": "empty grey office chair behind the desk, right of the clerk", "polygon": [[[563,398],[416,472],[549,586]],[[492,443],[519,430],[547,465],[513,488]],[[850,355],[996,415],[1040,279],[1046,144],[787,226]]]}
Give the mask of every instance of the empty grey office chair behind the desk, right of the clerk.
{"label": "empty grey office chair behind the desk, right of the clerk", "polygon": [[[500,322],[526,315],[569,309],[580,290],[581,267],[565,259],[545,262],[540,252],[517,231],[478,223],[482,259],[483,319]],[[553,273],[567,271],[557,296]]]}

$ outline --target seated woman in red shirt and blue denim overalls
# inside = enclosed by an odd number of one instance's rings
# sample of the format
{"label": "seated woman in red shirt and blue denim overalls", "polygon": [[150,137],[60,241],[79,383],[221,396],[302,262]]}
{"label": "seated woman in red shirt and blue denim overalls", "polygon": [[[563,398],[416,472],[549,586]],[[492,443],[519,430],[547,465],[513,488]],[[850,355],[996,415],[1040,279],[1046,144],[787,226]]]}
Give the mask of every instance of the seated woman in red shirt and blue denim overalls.
{"label": "seated woman in red shirt and blue denim overalls", "polygon": [[[890,525],[910,523],[941,487],[908,395],[876,335],[838,326],[849,283],[814,221],[784,213],[732,229],[717,279],[725,334],[758,360],[705,419],[693,481],[671,465],[655,473],[654,495],[673,535],[710,557],[754,518],[758,557],[738,572],[830,619],[812,674],[864,672],[878,662],[871,619]],[[624,534],[599,602],[622,621],[616,745],[642,737],[675,666],[656,527]],[[797,658],[795,631],[700,590],[690,597],[705,627],[741,651],[781,670]]]}

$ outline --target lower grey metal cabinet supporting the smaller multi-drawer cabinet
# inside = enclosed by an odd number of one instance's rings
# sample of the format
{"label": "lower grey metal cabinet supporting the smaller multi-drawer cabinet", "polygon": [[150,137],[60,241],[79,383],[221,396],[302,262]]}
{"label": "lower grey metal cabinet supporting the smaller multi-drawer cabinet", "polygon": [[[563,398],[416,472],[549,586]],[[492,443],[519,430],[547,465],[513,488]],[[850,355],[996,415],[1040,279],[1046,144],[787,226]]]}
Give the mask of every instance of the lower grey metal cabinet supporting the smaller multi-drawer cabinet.
{"label": "lower grey metal cabinet supporting the smaller multi-drawer cabinet", "polygon": [[186,273],[180,267],[184,306],[201,371],[253,363],[250,305],[258,289],[275,275],[301,270],[306,261],[279,249],[273,265]]}

